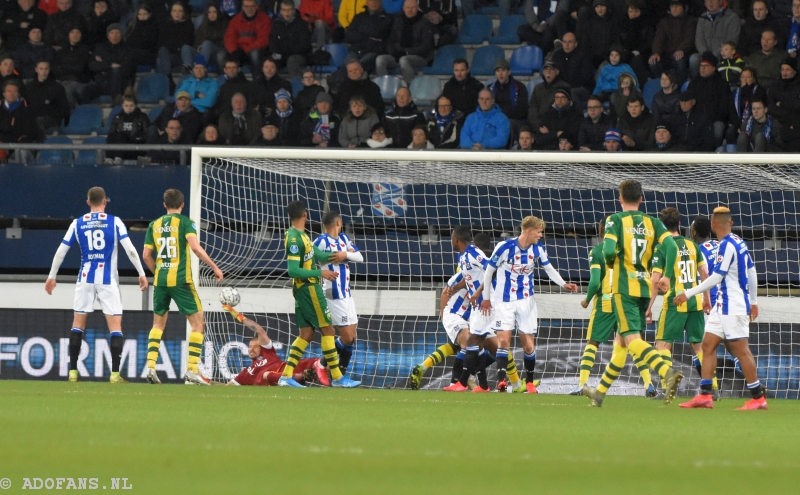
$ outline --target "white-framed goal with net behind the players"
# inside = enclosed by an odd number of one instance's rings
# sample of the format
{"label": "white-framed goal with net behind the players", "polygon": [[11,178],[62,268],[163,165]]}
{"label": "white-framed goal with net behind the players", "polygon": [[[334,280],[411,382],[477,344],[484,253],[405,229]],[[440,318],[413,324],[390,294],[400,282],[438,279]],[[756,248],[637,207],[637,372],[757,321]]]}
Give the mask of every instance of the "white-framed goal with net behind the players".
{"label": "white-framed goal with net behind the players", "polygon": [[[756,157],[772,164],[748,163]],[[532,162],[535,159],[537,162]],[[297,336],[294,300],[286,273],[283,236],[287,204],[308,207],[307,232],[322,232],[327,210],[338,211],[344,231],[364,255],[351,263],[351,288],[359,313],[358,337],[348,373],[367,387],[403,388],[411,368],[447,341],[439,315],[441,289],[454,273],[455,226],[485,232],[495,245],[519,233],[523,217],[547,222],[543,243],[565,280],[585,294],[589,250],[598,222],[619,210],[622,180],[642,182],[642,209],[681,213],[686,229],[697,215],[727,205],[734,232],[748,243],[759,272],[761,316],[751,324],[750,344],[770,396],[800,392],[800,284],[798,199],[800,175],[786,155],[514,154],[368,150],[193,150],[191,211],[200,220],[201,242],[225,273],[224,286],[242,295],[239,310],[267,329],[279,355]],[[738,162],[738,163],[737,163]],[[221,310],[220,285],[199,269],[206,307],[203,365],[227,381],[250,363],[252,332]],[[539,334],[536,378],[543,393],[565,393],[578,383],[590,310],[584,294],[564,293],[543,270],[536,276]],[[656,303],[656,317],[662,298]],[[653,342],[654,326],[645,333]],[[513,355],[522,363],[516,338]],[[601,345],[590,384],[599,380],[611,354]],[[687,377],[681,395],[693,395],[699,376],[688,343],[673,349],[675,366]],[[321,355],[319,334],[306,356]],[[740,396],[743,376],[720,347],[722,393]],[[423,388],[450,382],[452,358],[429,370]],[[489,373],[490,381],[495,370]],[[654,374],[655,376],[655,374]],[[611,393],[642,394],[632,359]]]}

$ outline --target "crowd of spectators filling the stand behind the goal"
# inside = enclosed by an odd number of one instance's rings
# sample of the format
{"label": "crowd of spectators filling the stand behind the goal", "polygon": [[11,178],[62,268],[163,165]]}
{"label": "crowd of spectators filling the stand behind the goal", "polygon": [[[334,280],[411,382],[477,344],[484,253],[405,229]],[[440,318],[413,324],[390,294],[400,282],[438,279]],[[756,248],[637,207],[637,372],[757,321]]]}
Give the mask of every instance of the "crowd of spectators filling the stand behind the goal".
{"label": "crowd of spectators filling the stand behind the goal", "polygon": [[[491,4],[523,12],[519,38],[544,54],[530,93],[505,58],[486,85],[459,58],[432,108],[407,87],[385,104],[371,77],[408,85],[456,42],[459,16]],[[338,13],[331,0],[210,0],[194,12],[184,0],[0,0],[0,16],[0,142],[42,142],[76,105],[107,96],[121,106],[110,144],[800,150],[800,0],[558,0],[553,13],[533,0],[462,0],[460,12],[406,0],[396,14],[381,0],[343,0]],[[329,62],[331,42],[349,55],[323,81],[309,67]],[[142,65],[172,95],[152,122],[132,89]],[[658,90],[646,100],[648,82]]]}

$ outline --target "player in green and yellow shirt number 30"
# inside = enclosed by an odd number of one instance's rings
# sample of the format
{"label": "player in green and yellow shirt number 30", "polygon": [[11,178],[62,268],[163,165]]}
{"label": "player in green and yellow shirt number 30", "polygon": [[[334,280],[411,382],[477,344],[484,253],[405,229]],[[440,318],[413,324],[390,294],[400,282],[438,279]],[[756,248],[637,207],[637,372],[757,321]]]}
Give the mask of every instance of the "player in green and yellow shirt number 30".
{"label": "player in green and yellow shirt number 30", "polygon": [[[700,344],[703,342],[703,333],[705,331],[704,312],[711,311],[711,299],[708,292],[697,294],[680,306],[675,306],[673,299],[677,294],[695,287],[698,275],[700,276],[700,281],[707,279],[708,265],[705,257],[700,252],[699,246],[694,241],[679,234],[681,216],[677,209],[665,208],[661,210],[659,218],[672,234],[672,238],[678,246],[678,252],[675,256],[675,266],[673,268],[675,276],[670,280],[667,293],[664,294],[665,305],[662,307],[661,316],[658,318],[656,350],[672,366],[672,343],[676,340],[683,340],[683,331],[685,329],[689,344],[692,346],[692,352],[695,355],[695,368],[697,368],[699,374],[700,363],[703,361],[703,351]],[[659,284],[659,282],[661,281],[661,274],[664,272],[665,264],[666,256],[662,244],[658,246],[655,255],[653,255],[651,282],[654,289],[650,296],[650,305],[647,307],[648,323],[653,322],[652,308],[658,296],[658,290],[655,288],[663,285]],[[716,389],[718,388],[716,377],[713,380],[714,389]]]}

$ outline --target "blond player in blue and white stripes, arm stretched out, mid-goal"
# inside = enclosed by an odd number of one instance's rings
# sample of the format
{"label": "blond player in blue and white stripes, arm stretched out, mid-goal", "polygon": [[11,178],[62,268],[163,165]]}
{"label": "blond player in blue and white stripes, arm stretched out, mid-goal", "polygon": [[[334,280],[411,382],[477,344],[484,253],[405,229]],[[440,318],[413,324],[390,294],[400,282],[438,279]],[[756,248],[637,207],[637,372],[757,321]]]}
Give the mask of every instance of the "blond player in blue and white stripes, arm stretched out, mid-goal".
{"label": "blond player in blue and white stripes, arm stretched out, mid-goal", "polygon": [[[511,344],[511,331],[515,325],[520,332],[522,349],[525,353],[525,378],[528,393],[535,394],[536,385],[533,371],[536,366],[534,338],[538,331],[536,301],[533,299],[533,269],[536,260],[545,270],[550,280],[571,292],[578,292],[578,286],[566,283],[550,264],[547,250],[539,242],[544,235],[545,223],[535,216],[522,220],[522,233],[519,237],[501,242],[494,248],[492,258],[486,267],[483,285],[477,293],[487,291],[481,302],[481,311],[489,315],[494,309],[492,329],[497,333],[498,382],[505,380],[505,366]],[[497,272],[497,279],[492,280]]]}

